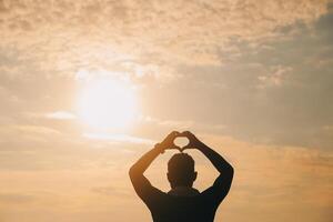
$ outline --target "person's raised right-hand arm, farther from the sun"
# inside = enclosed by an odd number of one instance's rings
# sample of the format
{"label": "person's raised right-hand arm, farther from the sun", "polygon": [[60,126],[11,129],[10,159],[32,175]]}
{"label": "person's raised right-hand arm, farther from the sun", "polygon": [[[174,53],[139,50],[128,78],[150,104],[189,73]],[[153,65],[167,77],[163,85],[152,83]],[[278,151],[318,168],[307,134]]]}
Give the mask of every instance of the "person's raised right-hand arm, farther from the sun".
{"label": "person's raised right-hand arm, farther from the sun", "polygon": [[209,148],[201,142],[193,133],[185,131],[182,135],[186,137],[190,143],[184,149],[198,149],[200,150],[220,172],[220,175],[215,180],[214,184],[204,192],[210,194],[212,199],[215,199],[220,203],[228,194],[231,182],[233,179],[232,165],[222,158],[218,152]]}

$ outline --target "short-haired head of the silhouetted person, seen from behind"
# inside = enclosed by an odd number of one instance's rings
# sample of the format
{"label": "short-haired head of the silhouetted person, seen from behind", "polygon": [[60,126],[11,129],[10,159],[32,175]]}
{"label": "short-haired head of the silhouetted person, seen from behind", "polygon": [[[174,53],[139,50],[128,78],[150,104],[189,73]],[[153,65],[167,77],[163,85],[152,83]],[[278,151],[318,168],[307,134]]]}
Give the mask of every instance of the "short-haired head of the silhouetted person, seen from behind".
{"label": "short-haired head of the silhouetted person, seen from behind", "polygon": [[168,162],[168,180],[171,188],[193,185],[196,179],[194,160],[186,153],[176,153]]}

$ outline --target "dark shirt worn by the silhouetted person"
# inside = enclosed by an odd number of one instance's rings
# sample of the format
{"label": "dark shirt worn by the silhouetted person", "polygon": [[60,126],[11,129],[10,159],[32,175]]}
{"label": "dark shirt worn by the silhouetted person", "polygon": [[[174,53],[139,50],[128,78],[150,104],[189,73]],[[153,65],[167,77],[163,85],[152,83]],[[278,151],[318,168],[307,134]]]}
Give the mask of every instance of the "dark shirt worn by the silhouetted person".
{"label": "dark shirt worn by the silhouetted person", "polygon": [[231,181],[232,174],[221,174],[211,188],[186,196],[162,192],[144,176],[132,178],[134,189],[149,208],[154,222],[213,222]]}

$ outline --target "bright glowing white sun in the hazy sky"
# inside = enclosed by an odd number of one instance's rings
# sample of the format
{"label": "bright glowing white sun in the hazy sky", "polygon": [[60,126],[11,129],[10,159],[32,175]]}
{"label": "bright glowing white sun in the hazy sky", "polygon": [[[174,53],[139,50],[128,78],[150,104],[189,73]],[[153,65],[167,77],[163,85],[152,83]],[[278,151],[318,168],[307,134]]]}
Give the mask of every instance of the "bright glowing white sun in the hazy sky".
{"label": "bright glowing white sun in the hazy sky", "polygon": [[135,93],[130,84],[117,79],[92,80],[79,97],[78,112],[91,128],[125,129],[138,112]]}

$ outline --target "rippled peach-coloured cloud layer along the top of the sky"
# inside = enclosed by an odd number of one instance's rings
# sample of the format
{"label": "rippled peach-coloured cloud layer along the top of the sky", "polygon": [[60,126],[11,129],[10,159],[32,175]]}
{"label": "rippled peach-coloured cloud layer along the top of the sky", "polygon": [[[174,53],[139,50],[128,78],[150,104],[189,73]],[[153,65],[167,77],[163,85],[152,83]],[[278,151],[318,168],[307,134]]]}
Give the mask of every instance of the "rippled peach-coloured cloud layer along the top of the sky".
{"label": "rippled peach-coloured cloud layer along the top of the sky", "polygon": [[[43,69],[219,64],[229,38],[262,39],[326,12],[313,1],[2,1],[1,44]],[[26,53],[28,52],[28,53]]]}

